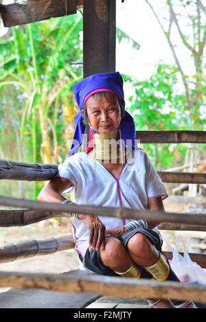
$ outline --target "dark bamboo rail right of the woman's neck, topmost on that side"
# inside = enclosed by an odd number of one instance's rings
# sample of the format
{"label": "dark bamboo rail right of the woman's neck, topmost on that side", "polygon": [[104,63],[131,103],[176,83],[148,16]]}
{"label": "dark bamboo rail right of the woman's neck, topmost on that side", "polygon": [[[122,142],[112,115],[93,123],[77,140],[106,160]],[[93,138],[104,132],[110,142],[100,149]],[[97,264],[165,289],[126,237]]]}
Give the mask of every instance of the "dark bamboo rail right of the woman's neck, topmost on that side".
{"label": "dark bamboo rail right of the woman's neck, topmost on that side", "polygon": [[206,143],[206,131],[136,131],[140,143]]}

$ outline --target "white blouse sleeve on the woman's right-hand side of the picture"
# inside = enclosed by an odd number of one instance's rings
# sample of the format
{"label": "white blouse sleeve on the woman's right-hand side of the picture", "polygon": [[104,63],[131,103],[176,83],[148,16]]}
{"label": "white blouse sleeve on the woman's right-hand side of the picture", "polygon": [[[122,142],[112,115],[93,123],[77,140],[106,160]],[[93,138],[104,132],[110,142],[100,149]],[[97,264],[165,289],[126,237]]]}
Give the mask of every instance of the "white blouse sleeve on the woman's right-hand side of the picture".
{"label": "white blouse sleeve on the woman's right-hand side of the picture", "polygon": [[145,153],[146,164],[146,192],[148,198],[161,197],[162,200],[168,197],[168,193],[161,181],[159,174],[153,167],[148,155]]}

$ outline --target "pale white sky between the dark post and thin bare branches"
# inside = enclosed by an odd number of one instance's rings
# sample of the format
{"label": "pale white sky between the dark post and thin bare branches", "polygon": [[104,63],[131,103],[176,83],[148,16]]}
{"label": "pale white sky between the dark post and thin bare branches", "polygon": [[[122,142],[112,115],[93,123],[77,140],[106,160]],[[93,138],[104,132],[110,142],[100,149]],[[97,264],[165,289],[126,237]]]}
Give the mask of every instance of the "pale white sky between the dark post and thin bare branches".
{"label": "pale white sky between the dark post and thin bare branches", "polygon": [[[117,43],[116,69],[139,80],[155,70],[159,60],[173,62],[173,58],[159,24],[144,0],[117,0],[117,27],[140,45],[134,50],[126,41]],[[129,59],[128,59],[129,57]]]}

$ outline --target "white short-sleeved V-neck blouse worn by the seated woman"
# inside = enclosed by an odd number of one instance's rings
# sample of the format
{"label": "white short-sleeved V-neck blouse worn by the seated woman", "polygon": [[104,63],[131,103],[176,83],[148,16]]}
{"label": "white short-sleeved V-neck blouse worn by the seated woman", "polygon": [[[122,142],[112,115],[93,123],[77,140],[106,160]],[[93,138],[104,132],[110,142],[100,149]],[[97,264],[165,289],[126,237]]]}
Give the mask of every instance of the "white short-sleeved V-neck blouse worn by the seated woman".
{"label": "white short-sleeved V-neck blouse worn by the seated woman", "polygon": [[[58,176],[73,183],[70,193],[75,191],[77,205],[148,209],[148,198],[161,196],[165,199],[168,194],[146,152],[137,148],[135,156],[131,153],[117,179],[84,152],[78,152],[58,165]],[[99,218],[106,229],[130,222],[121,218]],[[89,230],[77,218],[73,218],[72,226],[76,251],[84,257],[89,247]]]}

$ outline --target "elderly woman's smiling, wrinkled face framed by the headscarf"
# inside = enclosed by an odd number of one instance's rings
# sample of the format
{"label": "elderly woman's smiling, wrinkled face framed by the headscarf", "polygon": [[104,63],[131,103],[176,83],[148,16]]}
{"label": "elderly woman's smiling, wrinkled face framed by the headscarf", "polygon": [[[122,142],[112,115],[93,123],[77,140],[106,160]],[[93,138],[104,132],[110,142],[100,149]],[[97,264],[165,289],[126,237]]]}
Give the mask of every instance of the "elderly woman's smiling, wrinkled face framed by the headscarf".
{"label": "elderly woman's smiling, wrinkled face framed by the headscarf", "polygon": [[[84,113],[84,111],[82,111]],[[121,109],[115,95],[94,95],[87,100],[87,117],[93,130],[111,133],[121,122]]]}

